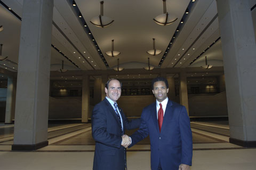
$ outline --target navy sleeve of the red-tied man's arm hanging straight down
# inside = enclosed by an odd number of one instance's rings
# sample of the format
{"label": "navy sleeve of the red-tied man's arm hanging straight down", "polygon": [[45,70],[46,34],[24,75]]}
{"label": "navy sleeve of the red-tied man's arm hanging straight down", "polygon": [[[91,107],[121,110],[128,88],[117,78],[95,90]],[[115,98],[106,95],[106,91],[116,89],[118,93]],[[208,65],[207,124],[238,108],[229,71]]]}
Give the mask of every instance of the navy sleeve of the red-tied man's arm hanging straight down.
{"label": "navy sleeve of the red-tied man's arm hanging straight down", "polygon": [[192,164],[193,155],[193,142],[192,132],[190,128],[190,119],[187,114],[185,107],[182,107],[179,116],[179,127],[181,135],[181,164],[190,165]]}

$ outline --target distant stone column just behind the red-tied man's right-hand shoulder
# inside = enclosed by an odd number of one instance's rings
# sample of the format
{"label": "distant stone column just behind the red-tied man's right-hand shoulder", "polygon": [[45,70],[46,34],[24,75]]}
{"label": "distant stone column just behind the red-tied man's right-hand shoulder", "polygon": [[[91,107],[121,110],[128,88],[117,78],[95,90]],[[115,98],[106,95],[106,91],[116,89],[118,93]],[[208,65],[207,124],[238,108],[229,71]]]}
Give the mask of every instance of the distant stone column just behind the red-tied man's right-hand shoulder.
{"label": "distant stone column just behind the red-tied man's right-hand shoulder", "polygon": [[186,107],[189,115],[187,74],[185,68],[182,68],[180,72],[180,104]]}

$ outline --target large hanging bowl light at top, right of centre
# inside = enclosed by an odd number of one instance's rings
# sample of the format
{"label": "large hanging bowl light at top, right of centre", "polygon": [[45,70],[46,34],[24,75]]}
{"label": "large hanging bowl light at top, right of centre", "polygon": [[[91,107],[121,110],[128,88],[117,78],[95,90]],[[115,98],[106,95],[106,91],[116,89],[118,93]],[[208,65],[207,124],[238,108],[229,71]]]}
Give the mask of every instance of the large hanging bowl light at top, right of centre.
{"label": "large hanging bowl light at top, right of centre", "polygon": [[163,0],[163,9],[164,9],[164,13],[161,15],[158,15],[153,19],[158,25],[167,26],[178,19],[174,15],[170,15],[168,12],[166,12],[166,0]]}

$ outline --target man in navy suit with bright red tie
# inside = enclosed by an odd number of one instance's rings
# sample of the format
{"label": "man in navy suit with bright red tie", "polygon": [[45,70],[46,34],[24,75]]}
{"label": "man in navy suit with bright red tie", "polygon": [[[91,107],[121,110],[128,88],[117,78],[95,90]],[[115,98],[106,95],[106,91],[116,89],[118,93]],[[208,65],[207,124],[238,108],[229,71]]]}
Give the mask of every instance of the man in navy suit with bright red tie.
{"label": "man in navy suit with bright red tie", "polygon": [[149,135],[151,169],[188,170],[192,161],[192,133],[184,106],[167,98],[168,82],[163,77],[151,83],[156,102],[145,107],[141,125],[131,135],[132,147]]}

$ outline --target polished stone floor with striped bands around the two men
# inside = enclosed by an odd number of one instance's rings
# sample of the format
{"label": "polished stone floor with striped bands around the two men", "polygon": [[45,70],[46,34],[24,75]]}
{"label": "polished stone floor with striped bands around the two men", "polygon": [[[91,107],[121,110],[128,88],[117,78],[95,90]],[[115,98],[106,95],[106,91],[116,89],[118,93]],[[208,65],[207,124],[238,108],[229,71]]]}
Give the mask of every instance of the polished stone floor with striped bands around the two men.
{"label": "polished stone floor with striped bands around the two men", "polygon": [[[47,147],[11,151],[14,125],[0,124],[0,169],[92,169],[91,124],[49,124]],[[190,169],[255,169],[256,148],[228,142],[228,122],[191,122],[193,166]],[[127,131],[129,135],[133,131]],[[149,138],[127,149],[127,168],[150,169]]]}

